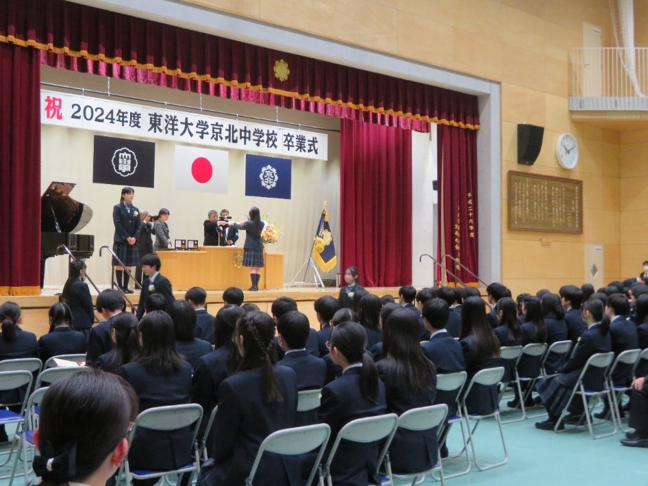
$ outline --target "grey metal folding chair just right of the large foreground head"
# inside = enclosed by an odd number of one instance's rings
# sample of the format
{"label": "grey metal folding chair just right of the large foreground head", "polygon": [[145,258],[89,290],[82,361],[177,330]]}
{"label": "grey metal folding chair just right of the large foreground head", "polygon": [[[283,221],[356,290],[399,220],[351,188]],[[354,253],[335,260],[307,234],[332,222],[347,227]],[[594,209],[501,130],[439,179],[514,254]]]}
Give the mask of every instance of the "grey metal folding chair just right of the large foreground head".
{"label": "grey metal folding chair just right of the large foreground head", "polygon": [[170,469],[166,471],[149,471],[149,470],[134,470],[130,469],[128,464],[128,455],[124,458],[119,468],[119,475],[125,475],[127,485],[132,485],[134,479],[153,479],[165,478],[171,474],[184,474],[186,472],[192,474],[200,468],[200,459],[198,455],[198,447],[196,444],[196,437],[198,435],[198,424],[203,418],[203,407],[197,403],[188,403],[184,405],[167,405],[166,407],[153,407],[141,412],[135,419],[135,424],[128,434],[128,448],[133,442],[133,437],[138,427],[145,429],[152,429],[154,431],[175,431],[176,429],[184,429],[184,427],[196,424],[193,429],[193,437],[190,444],[193,449],[193,460],[183,465],[181,468]]}

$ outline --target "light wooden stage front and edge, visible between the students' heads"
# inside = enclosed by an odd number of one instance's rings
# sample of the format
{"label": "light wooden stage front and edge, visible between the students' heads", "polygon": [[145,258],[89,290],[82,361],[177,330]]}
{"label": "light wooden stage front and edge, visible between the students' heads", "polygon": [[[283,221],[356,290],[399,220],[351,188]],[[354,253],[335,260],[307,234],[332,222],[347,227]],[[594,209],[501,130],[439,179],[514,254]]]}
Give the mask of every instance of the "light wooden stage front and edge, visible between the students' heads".
{"label": "light wooden stage front and edge, visible between the students' heads", "polygon": [[[131,284],[132,285],[132,284]],[[99,290],[103,290],[99,286]],[[246,287],[247,288],[247,287]],[[31,331],[36,334],[36,337],[40,337],[47,333],[49,329],[49,318],[47,316],[47,311],[49,307],[58,302],[58,295],[62,292],[63,287],[45,287],[42,290],[40,296],[3,296],[0,298],[0,303],[11,300],[16,304],[21,306],[23,309],[23,323],[21,328],[25,331]],[[383,296],[385,294],[390,294],[395,298],[398,298],[399,287],[371,287],[366,289],[371,294],[376,294],[377,296]],[[288,296],[294,298],[297,301],[297,307],[299,311],[303,312],[308,316],[310,322],[310,327],[313,329],[319,329],[319,324],[315,318],[315,311],[313,309],[313,303],[315,300],[320,298],[323,295],[332,295],[337,297],[340,292],[338,287],[325,287],[325,288],[316,288],[312,285],[310,286],[295,286],[295,287],[283,287],[280,289],[273,290],[258,290],[257,292],[249,292],[243,289],[243,294],[245,295],[246,303],[255,303],[259,306],[262,311],[271,314],[270,309],[273,301],[277,297]],[[90,286],[90,294],[92,294],[92,300],[94,301],[97,296],[97,291]],[[175,298],[184,298],[184,290],[173,292]],[[127,295],[127,298],[130,300],[134,307],[137,307],[139,302],[139,292],[136,291],[134,294]],[[207,311],[210,314],[216,314],[219,309],[223,306],[223,290],[210,290],[207,292]],[[101,316],[97,314],[98,319],[101,319]]]}

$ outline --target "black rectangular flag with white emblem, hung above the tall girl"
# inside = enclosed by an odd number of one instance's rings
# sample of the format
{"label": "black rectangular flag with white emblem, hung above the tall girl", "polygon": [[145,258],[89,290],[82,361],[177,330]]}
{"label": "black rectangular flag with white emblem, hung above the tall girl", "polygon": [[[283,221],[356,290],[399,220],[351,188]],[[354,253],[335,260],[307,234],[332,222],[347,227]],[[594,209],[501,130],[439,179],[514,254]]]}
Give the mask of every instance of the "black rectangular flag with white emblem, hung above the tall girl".
{"label": "black rectangular flag with white emblem, hung above the tall girl", "polygon": [[95,135],[92,182],[153,188],[155,142]]}

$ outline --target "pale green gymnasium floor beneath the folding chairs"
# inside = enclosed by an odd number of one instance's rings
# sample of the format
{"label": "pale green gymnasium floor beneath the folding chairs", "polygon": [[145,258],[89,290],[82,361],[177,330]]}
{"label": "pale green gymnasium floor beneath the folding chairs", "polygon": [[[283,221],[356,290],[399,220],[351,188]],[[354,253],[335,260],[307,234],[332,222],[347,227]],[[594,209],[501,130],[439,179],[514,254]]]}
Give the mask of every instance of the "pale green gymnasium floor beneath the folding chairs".
{"label": "pale green gymnasium floor beneath the folding chairs", "polygon": [[[535,412],[535,410],[534,410]],[[509,415],[510,416],[510,415]],[[479,472],[473,464],[471,472],[447,480],[450,486],[461,485],[648,485],[648,449],[629,448],[619,444],[623,433],[594,440],[586,427],[575,431],[556,434],[539,431],[534,422],[542,419],[527,419],[523,422],[505,424],[504,437],[508,446],[508,464],[499,468]],[[609,427],[599,426],[599,430]],[[453,429],[449,437],[450,452],[460,450],[459,428]],[[475,435],[477,453],[482,461],[496,461],[501,457],[501,443],[497,424],[484,420]],[[4,448],[3,448],[4,449]],[[447,473],[458,466],[456,460],[445,462]],[[5,466],[0,468],[0,476],[10,472]],[[32,478],[32,481],[34,478]],[[0,480],[0,485],[8,485],[8,480]],[[14,485],[24,485],[23,478],[16,478]],[[397,482],[397,484],[408,484]],[[439,484],[427,476],[425,485]],[[279,486],[279,485],[277,485]]]}

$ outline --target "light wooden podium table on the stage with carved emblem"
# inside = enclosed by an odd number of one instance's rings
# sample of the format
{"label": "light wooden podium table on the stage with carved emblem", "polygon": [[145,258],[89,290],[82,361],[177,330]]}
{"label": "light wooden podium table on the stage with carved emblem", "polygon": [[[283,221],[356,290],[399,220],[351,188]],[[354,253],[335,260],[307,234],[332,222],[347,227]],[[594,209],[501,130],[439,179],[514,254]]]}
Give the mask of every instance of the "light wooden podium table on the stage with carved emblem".
{"label": "light wooden podium table on the stage with carved emblem", "polygon": [[[225,290],[227,287],[247,289],[251,285],[250,269],[242,266],[243,248],[236,246],[199,246],[198,251],[158,251],[162,262],[160,273],[171,281],[173,290],[203,287]],[[284,254],[264,252],[265,267],[261,269],[259,289],[280,289],[284,286]]]}

